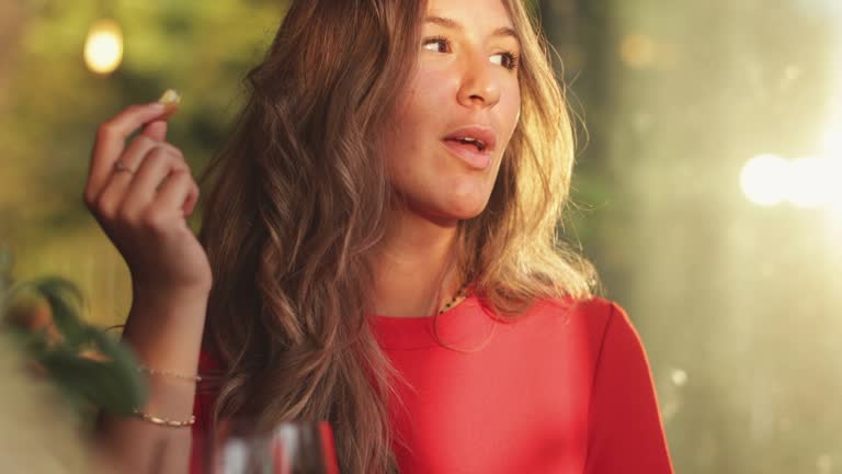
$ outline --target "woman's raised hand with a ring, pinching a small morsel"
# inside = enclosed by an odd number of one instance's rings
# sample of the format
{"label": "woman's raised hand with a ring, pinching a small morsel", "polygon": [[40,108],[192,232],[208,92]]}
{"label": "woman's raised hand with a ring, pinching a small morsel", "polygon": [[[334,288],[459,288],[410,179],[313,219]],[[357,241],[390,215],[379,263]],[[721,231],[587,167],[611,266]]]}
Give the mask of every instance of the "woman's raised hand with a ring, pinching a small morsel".
{"label": "woman's raised hand with a ring, pinching a small morsel", "polygon": [[166,142],[166,112],[158,102],[132,105],[100,125],[84,203],[123,255],[136,292],[209,292],[207,255],[186,223],[198,187],[181,150]]}

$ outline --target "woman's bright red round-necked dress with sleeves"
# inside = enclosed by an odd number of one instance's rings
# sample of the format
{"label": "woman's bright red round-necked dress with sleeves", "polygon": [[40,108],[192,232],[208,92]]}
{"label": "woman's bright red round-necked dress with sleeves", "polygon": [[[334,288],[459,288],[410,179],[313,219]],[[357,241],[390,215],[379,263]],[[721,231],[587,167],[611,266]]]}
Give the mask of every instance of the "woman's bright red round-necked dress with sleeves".
{"label": "woman's bright red round-necked dress with sleeves", "polygon": [[[372,317],[408,383],[402,405],[390,404],[400,473],[673,472],[646,352],[623,308],[547,300],[513,324],[491,315],[471,296],[436,319]],[[196,432],[210,403],[197,396]]]}

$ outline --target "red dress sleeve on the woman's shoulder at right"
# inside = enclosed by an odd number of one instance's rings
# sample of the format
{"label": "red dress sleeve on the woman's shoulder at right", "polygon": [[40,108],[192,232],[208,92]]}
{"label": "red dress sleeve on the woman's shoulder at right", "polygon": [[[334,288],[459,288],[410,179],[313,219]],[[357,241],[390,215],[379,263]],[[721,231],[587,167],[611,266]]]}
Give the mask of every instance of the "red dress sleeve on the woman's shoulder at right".
{"label": "red dress sleeve on the woman's shoulder at right", "polygon": [[585,474],[672,474],[649,361],[625,311],[612,304],[591,393]]}

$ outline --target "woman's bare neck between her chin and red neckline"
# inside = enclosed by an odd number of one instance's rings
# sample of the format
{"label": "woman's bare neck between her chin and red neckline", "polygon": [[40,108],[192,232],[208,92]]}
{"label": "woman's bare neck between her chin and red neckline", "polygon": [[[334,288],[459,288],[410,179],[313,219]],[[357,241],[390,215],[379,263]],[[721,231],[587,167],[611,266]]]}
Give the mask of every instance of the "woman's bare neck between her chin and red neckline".
{"label": "woman's bare neck between her chin and red neckline", "polygon": [[402,213],[375,252],[374,312],[383,316],[432,316],[463,282],[455,266],[458,221]]}

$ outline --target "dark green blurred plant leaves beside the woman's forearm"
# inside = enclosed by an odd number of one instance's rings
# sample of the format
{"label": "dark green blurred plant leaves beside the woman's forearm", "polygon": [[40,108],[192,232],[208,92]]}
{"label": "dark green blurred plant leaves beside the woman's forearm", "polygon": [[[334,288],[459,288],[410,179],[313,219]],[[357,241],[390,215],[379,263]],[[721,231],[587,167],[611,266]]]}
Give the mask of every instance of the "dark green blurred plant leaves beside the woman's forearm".
{"label": "dark green blurred plant leaves beside the woman's forearm", "polygon": [[147,388],[134,354],[82,320],[73,283],[20,282],[3,290],[0,302],[0,343],[18,343],[33,374],[46,375],[83,419],[91,421],[99,409],[129,416],[144,405]]}

